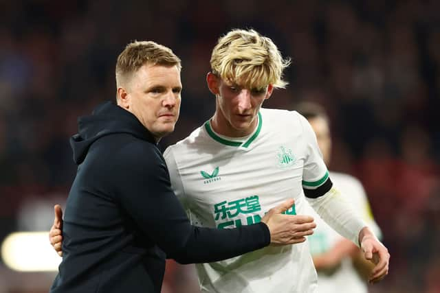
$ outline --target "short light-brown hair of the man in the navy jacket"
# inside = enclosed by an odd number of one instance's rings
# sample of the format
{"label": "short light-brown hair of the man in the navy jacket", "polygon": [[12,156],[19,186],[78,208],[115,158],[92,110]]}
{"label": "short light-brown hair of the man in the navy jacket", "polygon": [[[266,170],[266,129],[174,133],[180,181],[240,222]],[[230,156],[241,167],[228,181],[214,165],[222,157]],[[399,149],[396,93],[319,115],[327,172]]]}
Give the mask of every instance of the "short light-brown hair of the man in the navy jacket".
{"label": "short light-brown hair of the man in the navy jacket", "polygon": [[140,67],[145,64],[177,66],[181,69],[181,61],[173,51],[151,40],[137,41],[126,45],[116,62],[116,86],[127,82]]}

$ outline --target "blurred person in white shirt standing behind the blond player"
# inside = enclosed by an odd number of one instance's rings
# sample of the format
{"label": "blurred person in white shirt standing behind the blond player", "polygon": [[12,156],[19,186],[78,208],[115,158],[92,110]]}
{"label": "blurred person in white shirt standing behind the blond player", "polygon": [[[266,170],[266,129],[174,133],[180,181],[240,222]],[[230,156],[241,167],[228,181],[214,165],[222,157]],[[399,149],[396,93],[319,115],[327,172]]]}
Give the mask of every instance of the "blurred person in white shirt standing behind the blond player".
{"label": "blurred person in white shirt standing behind the blond player", "polygon": [[[327,166],[331,159],[331,132],[329,117],[325,109],[319,104],[303,102],[294,109],[303,115],[313,128],[318,145]],[[377,226],[371,213],[369,200],[360,181],[349,175],[329,171],[331,180],[341,191],[353,207],[362,215],[363,220],[380,237],[380,228]],[[310,253],[318,272],[319,293],[366,293],[368,286],[366,279],[373,269],[371,261],[366,261],[361,250],[353,242],[342,237],[333,230],[314,209],[309,209],[316,220],[314,235],[308,237]]]}

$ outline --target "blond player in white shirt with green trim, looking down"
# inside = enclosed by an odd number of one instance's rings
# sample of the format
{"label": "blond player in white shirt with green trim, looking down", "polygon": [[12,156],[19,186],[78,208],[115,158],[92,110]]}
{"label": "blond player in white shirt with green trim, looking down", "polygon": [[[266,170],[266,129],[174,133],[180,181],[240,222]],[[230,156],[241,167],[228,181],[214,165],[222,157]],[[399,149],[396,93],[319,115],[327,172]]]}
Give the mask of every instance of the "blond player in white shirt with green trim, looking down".
{"label": "blond player in white shirt with green trim, looking down", "polygon": [[[388,272],[389,254],[332,187],[316,137],[294,111],[261,108],[283,88],[289,60],[254,30],[232,30],[212,51],[211,119],[164,152],[175,194],[193,224],[234,228],[259,222],[293,197],[287,213],[303,221],[306,200],[339,233],[377,263],[370,281]],[[374,256],[374,257],[373,257]],[[307,243],[267,247],[196,265],[202,292],[316,292]]]}

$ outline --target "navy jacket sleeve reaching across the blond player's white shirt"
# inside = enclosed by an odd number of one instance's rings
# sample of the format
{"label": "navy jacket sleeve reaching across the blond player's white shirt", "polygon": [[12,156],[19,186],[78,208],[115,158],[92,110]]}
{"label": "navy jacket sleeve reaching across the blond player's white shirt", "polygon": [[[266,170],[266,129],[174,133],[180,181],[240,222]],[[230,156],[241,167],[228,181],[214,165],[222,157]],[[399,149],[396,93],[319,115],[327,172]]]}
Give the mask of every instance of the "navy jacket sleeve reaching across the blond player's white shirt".
{"label": "navy jacket sleeve reaching across the blond player's white shirt", "polygon": [[171,189],[168,169],[155,145],[126,145],[116,162],[115,187],[122,209],[168,258],[179,263],[219,261],[270,244],[264,223],[221,230],[192,226]]}

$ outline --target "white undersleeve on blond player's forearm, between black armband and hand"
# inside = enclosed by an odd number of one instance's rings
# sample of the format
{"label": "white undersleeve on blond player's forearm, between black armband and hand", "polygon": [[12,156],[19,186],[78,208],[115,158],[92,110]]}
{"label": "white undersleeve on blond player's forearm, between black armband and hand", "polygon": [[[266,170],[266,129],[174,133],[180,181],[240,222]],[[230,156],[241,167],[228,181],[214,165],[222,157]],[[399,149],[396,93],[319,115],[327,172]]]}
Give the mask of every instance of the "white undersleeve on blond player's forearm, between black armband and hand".
{"label": "white undersleeve on blond player's forearm, between black armband and hand", "polygon": [[307,198],[311,207],[331,228],[359,246],[359,233],[366,223],[356,213],[353,204],[332,187],[327,194],[318,198]]}

